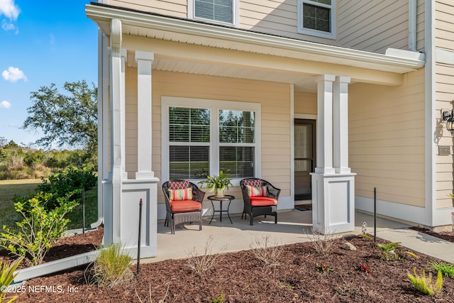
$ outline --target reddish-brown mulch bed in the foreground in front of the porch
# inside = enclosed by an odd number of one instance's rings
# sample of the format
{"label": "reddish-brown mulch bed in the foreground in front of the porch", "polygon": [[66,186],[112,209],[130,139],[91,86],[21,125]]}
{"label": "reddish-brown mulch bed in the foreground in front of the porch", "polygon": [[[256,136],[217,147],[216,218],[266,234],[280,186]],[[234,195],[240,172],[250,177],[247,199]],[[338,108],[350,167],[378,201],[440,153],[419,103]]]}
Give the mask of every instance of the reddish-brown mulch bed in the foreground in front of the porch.
{"label": "reddish-brown mulch bed in the foreground in front of the porch", "polygon": [[[413,268],[419,274],[423,268],[432,272],[428,264],[433,258],[416,252],[419,258],[414,258],[399,247],[400,260],[384,261],[377,258],[379,251],[372,241],[349,238],[358,248],[354,251],[341,249],[346,241],[329,255],[317,254],[309,242],[282,246],[276,268],[264,266],[252,250],[220,255],[214,268],[201,276],[191,272],[187,260],[143,264],[137,280],[112,289],[87,285],[84,268],[79,268],[26,282],[18,302],[149,302],[150,295],[153,302],[163,298],[165,302],[211,302],[221,295],[224,302],[452,302],[453,279],[445,278],[443,290],[428,297],[415,292],[406,276]],[[324,274],[316,270],[317,265],[332,270]],[[372,273],[358,271],[359,265],[367,265]],[[37,287],[40,291],[31,291]]]}

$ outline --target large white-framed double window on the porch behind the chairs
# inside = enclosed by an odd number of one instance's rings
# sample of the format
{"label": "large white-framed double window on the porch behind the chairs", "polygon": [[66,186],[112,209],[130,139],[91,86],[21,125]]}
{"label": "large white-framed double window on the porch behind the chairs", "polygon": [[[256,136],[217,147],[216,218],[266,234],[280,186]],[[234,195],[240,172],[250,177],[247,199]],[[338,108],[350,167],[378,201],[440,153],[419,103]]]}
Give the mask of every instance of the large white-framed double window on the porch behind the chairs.
{"label": "large white-framed double window on the porch behind the chairs", "polygon": [[257,177],[259,130],[260,104],[162,97],[162,180]]}

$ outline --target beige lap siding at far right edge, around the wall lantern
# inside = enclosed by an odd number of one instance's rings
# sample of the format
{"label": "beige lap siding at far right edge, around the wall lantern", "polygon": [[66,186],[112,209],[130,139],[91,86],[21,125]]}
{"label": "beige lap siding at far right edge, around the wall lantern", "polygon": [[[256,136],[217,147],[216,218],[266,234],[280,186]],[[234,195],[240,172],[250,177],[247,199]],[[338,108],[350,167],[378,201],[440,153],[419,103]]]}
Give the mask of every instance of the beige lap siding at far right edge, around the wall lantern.
{"label": "beige lap siding at far right edge, around the wall lantern", "polygon": [[[435,4],[435,44],[454,52],[454,2],[438,0]],[[436,148],[436,206],[438,208],[453,207],[453,199],[448,194],[453,193],[453,136],[446,131],[445,122],[440,123],[441,112],[453,109],[454,99],[454,66],[436,62],[436,145],[447,145],[450,155],[438,155]]]}

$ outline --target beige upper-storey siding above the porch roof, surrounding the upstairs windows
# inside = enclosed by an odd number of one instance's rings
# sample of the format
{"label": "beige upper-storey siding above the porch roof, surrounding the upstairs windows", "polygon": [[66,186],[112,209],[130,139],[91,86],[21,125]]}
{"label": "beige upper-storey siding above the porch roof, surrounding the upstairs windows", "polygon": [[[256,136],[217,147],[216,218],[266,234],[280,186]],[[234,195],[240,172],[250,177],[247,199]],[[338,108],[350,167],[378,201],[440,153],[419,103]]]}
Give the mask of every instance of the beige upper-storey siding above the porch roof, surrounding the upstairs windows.
{"label": "beige upper-storey siding above the porch roof, surrounding the upstairs windows", "polygon": [[[188,0],[109,0],[109,4],[139,11],[187,18]],[[316,43],[384,53],[387,48],[408,49],[408,1],[338,0],[336,40],[297,32],[297,0],[240,0],[239,26]],[[424,0],[418,0],[417,49],[424,45]]]}

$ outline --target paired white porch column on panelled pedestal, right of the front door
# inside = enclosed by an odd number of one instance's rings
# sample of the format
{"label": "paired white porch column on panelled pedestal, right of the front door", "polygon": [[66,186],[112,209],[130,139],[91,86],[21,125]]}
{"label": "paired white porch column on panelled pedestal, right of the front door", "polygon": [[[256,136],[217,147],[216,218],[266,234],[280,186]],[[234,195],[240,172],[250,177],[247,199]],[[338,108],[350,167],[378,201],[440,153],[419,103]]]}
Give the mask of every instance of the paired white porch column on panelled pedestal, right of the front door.
{"label": "paired white porch column on panelled pedestal, right of the front door", "polygon": [[[336,80],[336,82],[334,82]],[[348,167],[349,77],[318,83],[317,167],[312,177],[312,224],[319,233],[355,230],[355,174]],[[333,85],[334,82],[334,85]]]}

